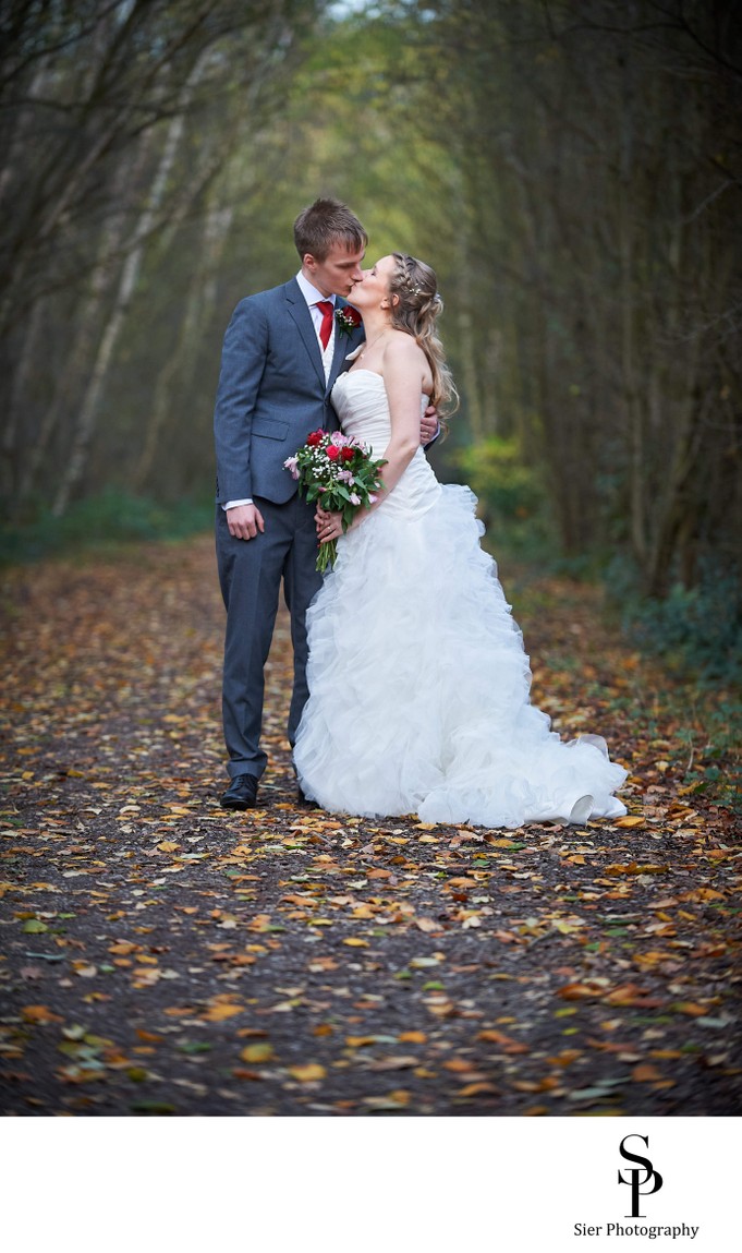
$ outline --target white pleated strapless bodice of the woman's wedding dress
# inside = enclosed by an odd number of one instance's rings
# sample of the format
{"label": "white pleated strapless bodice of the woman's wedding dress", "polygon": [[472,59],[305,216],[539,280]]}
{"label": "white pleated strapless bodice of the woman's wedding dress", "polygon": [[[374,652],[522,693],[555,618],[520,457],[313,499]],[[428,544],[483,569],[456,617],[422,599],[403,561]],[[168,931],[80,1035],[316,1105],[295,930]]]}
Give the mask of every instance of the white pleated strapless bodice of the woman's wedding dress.
{"label": "white pleated strapless bodice of the woman's wedding dress", "polygon": [[[382,457],[392,436],[389,402],[384,380],[373,370],[348,370],[333,387],[333,405],[344,435],[362,440],[374,457]],[[420,401],[420,416],[428,397]],[[403,511],[408,516],[425,514],[440,495],[438,482],[422,447],[413,456],[402,479],[384,502],[384,512]]]}

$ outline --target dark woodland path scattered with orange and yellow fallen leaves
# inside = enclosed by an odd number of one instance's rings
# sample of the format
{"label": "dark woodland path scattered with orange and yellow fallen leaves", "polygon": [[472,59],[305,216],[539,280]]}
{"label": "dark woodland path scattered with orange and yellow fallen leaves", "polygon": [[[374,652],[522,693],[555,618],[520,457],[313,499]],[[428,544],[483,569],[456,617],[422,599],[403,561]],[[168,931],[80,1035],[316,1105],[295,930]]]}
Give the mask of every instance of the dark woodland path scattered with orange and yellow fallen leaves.
{"label": "dark woodland path scattered with orange and yellow fallen leaves", "polygon": [[733,814],[599,594],[502,574],[534,699],[606,736],[628,818],[298,807],[284,618],[262,807],[228,813],[210,538],[5,573],[4,1114],[739,1114]]}

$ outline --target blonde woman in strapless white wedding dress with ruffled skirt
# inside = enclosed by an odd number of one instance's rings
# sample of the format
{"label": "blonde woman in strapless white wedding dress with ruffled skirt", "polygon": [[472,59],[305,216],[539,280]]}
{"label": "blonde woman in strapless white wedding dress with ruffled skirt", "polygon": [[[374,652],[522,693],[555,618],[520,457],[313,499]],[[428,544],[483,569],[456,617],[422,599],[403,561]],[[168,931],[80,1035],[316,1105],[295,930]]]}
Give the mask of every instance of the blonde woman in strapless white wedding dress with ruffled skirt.
{"label": "blonde woman in strapless white wedding dress with ruffled skirt", "polygon": [[626,771],[599,736],[566,743],[529,702],[522,634],[480,548],[468,487],[442,485],[419,446],[420,393],[455,396],[435,335],[435,274],[394,253],[352,293],[365,343],[335,382],[343,431],[385,459],[384,490],[343,535],[312,603],[309,700],[294,748],[324,809],[519,827],[626,813]]}

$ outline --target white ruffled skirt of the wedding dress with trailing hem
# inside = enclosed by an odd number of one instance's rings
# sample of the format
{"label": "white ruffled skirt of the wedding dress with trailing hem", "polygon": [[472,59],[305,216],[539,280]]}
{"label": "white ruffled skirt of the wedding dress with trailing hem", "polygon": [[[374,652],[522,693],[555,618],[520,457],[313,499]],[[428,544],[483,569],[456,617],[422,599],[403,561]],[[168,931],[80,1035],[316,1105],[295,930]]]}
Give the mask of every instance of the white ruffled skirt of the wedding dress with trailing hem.
{"label": "white ruffled skirt of the wedding dress with trailing hem", "polygon": [[604,741],[566,743],[531,704],[472,491],[443,486],[417,514],[392,497],[339,541],[309,609],[304,793],[332,812],[482,827],[626,813]]}

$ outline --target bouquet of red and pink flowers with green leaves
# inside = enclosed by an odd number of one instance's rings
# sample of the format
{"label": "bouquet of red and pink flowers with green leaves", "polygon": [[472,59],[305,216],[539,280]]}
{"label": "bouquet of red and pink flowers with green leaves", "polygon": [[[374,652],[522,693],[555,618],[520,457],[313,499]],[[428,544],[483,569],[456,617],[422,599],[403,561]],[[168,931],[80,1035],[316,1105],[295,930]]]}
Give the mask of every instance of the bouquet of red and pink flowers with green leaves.
{"label": "bouquet of red and pink flowers with green leaves", "polygon": [[[385,461],[374,461],[369,450],[359,440],[334,431],[313,431],[307,444],[293,457],[287,457],[284,469],[299,482],[299,491],[308,501],[318,500],[328,512],[343,515],[347,531],[362,506],[369,509],[382,486],[379,470]],[[319,545],[317,569],[323,573],[335,564],[338,541]]]}

